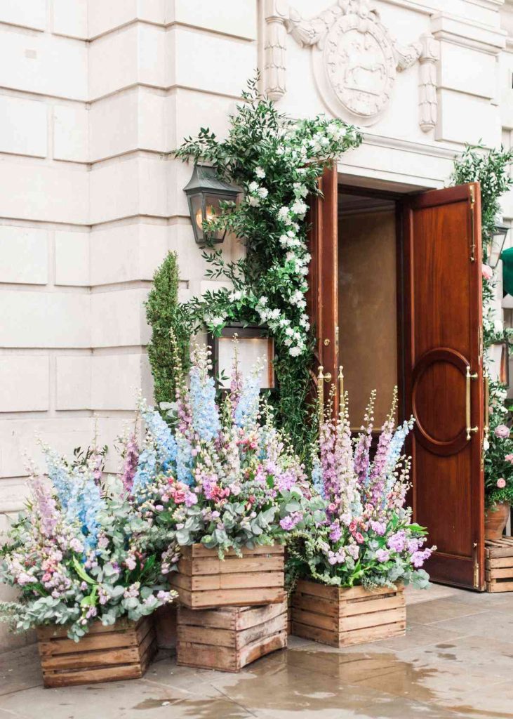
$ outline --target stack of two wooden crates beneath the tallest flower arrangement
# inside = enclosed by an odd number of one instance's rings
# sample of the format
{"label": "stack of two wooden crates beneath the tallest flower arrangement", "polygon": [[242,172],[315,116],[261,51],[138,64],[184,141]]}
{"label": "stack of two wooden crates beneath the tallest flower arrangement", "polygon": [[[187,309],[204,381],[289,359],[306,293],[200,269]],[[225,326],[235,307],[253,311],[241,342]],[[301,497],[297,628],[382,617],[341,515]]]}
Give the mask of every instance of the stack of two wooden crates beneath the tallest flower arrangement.
{"label": "stack of two wooden crates beneath the tallest flower arrangement", "polygon": [[171,580],[180,607],[177,663],[239,672],[287,646],[284,549],[245,549],[225,559],[201,544],[186,547]]}

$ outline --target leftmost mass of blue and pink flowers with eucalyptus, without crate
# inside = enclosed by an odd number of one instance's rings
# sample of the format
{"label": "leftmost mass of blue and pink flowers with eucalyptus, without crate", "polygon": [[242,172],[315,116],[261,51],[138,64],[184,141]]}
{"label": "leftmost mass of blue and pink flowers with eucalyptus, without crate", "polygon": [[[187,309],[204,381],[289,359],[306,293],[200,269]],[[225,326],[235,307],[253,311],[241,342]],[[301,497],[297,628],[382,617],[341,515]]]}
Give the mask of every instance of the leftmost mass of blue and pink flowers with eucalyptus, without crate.
{"label": "leftmost mass of blue and pink flowers with eucalyptus, without crate", "polygon": [[33,473],[27,508],[0,548],[0,581],[20,592],[0,603],[0,618],[16,631],[62,625],[78,641],[94,623],[137,622],[170,602],[149,524],[124,491],[108,493],[101,453],[68,462],[43,450],[50,482]]}

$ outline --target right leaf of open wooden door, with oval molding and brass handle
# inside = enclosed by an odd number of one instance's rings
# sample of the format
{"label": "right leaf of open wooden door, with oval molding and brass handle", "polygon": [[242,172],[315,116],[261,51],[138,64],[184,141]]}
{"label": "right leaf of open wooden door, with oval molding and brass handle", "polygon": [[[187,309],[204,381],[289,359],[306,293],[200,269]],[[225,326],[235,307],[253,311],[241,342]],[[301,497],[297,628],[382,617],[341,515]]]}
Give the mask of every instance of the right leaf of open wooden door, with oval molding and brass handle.
{"label": "right leaf of open wooden door, with oval molding and brass handle", "polygon": [[479,183],[404,204],[412,505],[437,582],[484,588],[484,399]]}

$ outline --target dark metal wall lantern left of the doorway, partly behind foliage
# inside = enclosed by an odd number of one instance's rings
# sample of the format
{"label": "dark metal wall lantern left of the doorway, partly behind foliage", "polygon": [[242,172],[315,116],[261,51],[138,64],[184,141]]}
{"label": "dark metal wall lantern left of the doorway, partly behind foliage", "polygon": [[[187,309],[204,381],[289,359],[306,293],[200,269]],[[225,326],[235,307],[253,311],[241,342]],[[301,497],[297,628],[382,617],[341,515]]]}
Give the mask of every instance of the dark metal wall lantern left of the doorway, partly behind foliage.
{"label": "dark metal wall lantern left of the doorway, partly behind foliage", "polygon": [[193,176],[183,191],[187,195],[194,239],[197,244],[223,242],[226,229],[208,234],[203,229],[203,222],[221,214],[220,202],[234,202],[240,192],[239,188],[220,180],[214,168],[194,165]]}

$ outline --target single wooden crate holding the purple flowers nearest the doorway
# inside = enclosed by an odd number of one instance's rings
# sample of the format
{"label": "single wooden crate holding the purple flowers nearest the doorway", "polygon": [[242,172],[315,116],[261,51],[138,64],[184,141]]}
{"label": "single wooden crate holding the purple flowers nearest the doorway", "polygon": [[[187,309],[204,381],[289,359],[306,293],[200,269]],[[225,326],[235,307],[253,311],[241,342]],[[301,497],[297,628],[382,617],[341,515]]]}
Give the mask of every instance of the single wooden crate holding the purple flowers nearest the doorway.
{"label": "single wooden crate holding the purple flowers nearest the doorway", "polygon": [[401,636],[406,630],[403,587],[369,592],[301,580],[292,595],[292,634],[330,646]]}

